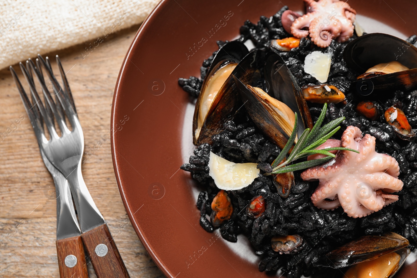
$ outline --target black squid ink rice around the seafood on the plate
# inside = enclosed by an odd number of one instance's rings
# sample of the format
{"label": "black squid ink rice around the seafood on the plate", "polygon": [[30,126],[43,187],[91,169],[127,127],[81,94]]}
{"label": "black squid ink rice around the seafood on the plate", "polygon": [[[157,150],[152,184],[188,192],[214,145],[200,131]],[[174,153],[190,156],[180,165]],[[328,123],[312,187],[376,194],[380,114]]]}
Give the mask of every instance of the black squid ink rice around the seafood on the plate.
{"label": "black squid ink rice around the seafood on the plate", "polygon": [[[261,16],[257,24],[247,20],[240,28],[241,42],[251,40],[256,48],[269,50],[272,39],[290,37],[281,24],[281,15],[287,10],[285,6],[270,18]],[[416,43],[416,35],[408,38],[410,43]],[[231,190],[229,197],[233,205],[231,220],[224,224],[222,237],[231,242],[237,241],[238,234],[246,235],[259,255],[261,262],[259,270],[274,273],[281,269],[288,278],[320,276],[333,277],[340,275],[340,269],[314,266],[325,253],[344,243],[362,235],[380,234],[385,231],[398,233],[410,241],[412,251],[417,246],[417,143],[397,138],[391,126],[383,118],[383,111],[392,105],[402,109],[413,129],[417,129],[417,91],[404,93],[396,91],[392,97],[379,100],[377,106],[382,113],[374,121],[358,115],[355,108],[359,102],[355,98],[354,88],[349,88],[352,81],[360,73],[347,69],[342,52],[347,43],[356,38],[354,35],[346,43],[333,40],[327,48],[315,46],[309,38],[303,38],[298,48],[289,52],[279,52],[287,66],[296,78],[298,84],[320,84],[311,75],[304,72],[304,58],[312,51],[332,52],[332,66],[327,83],[335,85],[346,98],[344,103],[330,104],[324,123],[338,117],[346,117],[341,129],[332,138],[340,139],[347,126],[353,125],[362,130],[363,134],[370,134],[377,138],[376,150],[394,157],[400,168],[399,179],[404,187],[398,193],[399,200],[382,210],[364,218],[351,218],[341,207],[332,210],[316,208],[311,203],[311,195],[318,182],[301,180],[300,173],[295,172],[295,186],[291,188],[288,198],[282,198],[269,177],[260,175],[246,188]],[[219,47],[225,42],[218,41]],[[217,52],[217,51],[216,51]],[[213,54],[216,54],[214,52]],[[179,85],[192,98],[198,97],[202,80],[211,65],[213,56],[203,61],[201,78],[191,76],[180,78]],[[315,122],[322,110],[321,104],[308,103],[313,121]],[[189,163],[181,166],[183,170],[191,172],[193,179],[204,188],[198,195],[197,208],[201,211],[200,224],[207,232],[213,232],[214,227],[206,218],[211,214],[211,202],[219,192],[214,180],[208,175],[208,161],[210,151],[228,158],[235,163],[255,162],[259,168],[268,168],[274,158],[279,155],[280,148],[268,140],[252,122],[246,111],[242,109],[238,116],[224,125],[224,130],[213,136],[213,144],[203,143],[194,150]],[[270,166],[269,166],[270,167]],[[266,211],[259,218],[250,218],[246,214],[246,206],[254,196],[262,195],[266,198]],[[331,227],[331,228],[330,228]],[[303,240],[302,252],[286,255],[275,252],[271,248],[271,238],[276,235],[301,235]],[[343,271],[343,269],[342,269]]]}

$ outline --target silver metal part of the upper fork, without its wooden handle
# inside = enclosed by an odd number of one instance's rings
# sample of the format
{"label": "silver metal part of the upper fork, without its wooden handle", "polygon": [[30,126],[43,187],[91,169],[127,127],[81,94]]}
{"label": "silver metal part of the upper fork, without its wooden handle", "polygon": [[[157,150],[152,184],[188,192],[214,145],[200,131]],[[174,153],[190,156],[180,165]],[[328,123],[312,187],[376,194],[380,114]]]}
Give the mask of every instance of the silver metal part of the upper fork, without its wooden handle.
{"label": "silver metal part of the upper fork, without its wooden handle", "polygon": [[[95,205],[93,198],[91,198],[81,174],[81,159],[84,150],[83,130],[78,120],[68,81],[58,56],[56,60],[63,80],[63,86],[55,78],[48,58],[45,61],[42,56],[38,55],[36,63],[28,60],[26,67],[20,63],[20,69],[29,84],[32,102],[30,102],[12,67],[10,67],[10,71],[18,87],[25,110],[29,115],[41,153],[64,175],[70,184],[80,220],[80,228],[85,232],[106,222]],[[35,88],[33,75],[36,76],[40,90],[42,90],[43,101]],[[46,86],[44,76],[48,76],[50,80],[55,100]],[[71,130],[65,122],[65,117],[71,124]],[[60,130],[60,136],[55,130],[55,121]],[[49,139],[45,135],[43,123],[48,130]]]}

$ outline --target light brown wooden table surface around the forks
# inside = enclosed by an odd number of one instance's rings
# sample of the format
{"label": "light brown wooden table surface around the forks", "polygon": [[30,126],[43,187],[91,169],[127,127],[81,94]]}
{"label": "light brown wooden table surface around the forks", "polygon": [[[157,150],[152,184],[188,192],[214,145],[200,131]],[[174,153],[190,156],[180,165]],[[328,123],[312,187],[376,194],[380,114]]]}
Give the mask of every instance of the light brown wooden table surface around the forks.
{"label": "light brown wooden table surface around the forks", "polygon": [[[134,277],[164,277],[143,248],[123,208],[110,150],[110,113],[116,78],[139,25],[50,53],[62,60],[84,131],[83,177]],[[53,59],[54,60],[54,59]],[[55,62],[53,62],[55,66]],[[19,66],[14,65],[17,72]],[[55,68],[56,69],[56,68]],[[55,70],[55,73],[57,70]],[[20,73],[19,78],[24,80]],[[25,83],[25,82],[24,82]],[[53,180],[8,69],[0,71],[0,277],[59,277]],[[95,147],[100,146],[101,147]],[[97,149],[90,152],[91,149]],[[93,153],[93,155],[91,155]],[[96,277],[89,264],[90,277]]]}

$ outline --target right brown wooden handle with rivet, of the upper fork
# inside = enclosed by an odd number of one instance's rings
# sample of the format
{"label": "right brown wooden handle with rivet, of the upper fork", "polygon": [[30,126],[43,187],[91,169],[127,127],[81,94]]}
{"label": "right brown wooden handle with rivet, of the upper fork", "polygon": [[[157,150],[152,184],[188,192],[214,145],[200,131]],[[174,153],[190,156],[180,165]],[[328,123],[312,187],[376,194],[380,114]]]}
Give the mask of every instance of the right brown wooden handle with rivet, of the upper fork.
{"label": "right brown wooden handle with rivet, of the upper fork", "polygon": [[129,278],[129,273],[106,224],[81,234],[98,278]]}

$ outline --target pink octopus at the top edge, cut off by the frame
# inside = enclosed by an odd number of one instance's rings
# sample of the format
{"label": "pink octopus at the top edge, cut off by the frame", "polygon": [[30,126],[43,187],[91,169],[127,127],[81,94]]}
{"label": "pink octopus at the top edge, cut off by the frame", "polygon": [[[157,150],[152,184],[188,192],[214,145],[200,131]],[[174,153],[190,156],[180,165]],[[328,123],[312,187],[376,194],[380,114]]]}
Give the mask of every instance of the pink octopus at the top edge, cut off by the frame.
{"label": "pink octopus at the top edge, cut off by the frame", "polygon": [[[310,35],[319,47],[327,47],[334,38],[339,43],[352,37],[356,11],[349,4],[339,0],[304,0],[307,5],[305,15],[286,10],[282,16],[284,29],[297,38]],[[308,30],[304,30],[308,28]]]}

